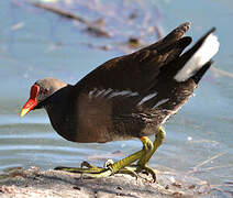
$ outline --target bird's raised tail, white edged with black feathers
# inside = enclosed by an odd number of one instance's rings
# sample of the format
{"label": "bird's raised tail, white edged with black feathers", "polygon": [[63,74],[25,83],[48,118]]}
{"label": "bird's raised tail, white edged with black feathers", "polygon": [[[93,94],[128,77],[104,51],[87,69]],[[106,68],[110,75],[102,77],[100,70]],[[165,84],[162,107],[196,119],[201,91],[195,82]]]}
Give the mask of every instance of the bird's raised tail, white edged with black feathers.
{"label": "bird's raised tail, white edged with black feathers", "polygon": [[213,35],[215,28],[202,36],[189,51],[179,58],[178,72],[174,79],[186,81],[192,78],[197,84],[211,66],[211,58],[219,51],[218,37]]}

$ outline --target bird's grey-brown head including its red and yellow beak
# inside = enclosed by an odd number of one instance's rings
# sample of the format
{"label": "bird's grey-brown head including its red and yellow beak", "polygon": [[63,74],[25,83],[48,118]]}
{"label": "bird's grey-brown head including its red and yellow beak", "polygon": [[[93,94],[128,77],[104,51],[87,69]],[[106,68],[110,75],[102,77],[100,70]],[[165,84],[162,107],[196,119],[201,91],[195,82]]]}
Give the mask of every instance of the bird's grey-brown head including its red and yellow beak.
{"label": "bird's grey-brown head including its red and yellow beak", "polygon": [[[44,101],[46,98],[52,96],[54,92],[60,88],[67,86],[67,84],[55,79],[55,78],[44,78],[37,80],[30,91],[30,98],[26,103],[23,106],[20,117],[25,116],[33,109],[38,109],[38,105]],[[40,107],[42,108],[42,106]]]}

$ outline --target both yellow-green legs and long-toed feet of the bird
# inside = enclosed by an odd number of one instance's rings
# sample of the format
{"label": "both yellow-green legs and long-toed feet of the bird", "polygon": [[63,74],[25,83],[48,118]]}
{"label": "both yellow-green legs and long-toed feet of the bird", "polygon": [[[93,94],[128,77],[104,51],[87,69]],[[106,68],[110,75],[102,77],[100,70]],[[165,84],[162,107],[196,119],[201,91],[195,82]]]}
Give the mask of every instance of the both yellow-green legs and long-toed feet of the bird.
{"label": "both yellow-green legs and long-toed feet of the bird", "polygon": [[[71,172],[71,173],[81,173],[86,177],[92,177],[92,178],[99,178],[99,177],[107,177],[110,175],[113,175],[118,172],[122,173],[134,173],[134,172],[141,172],[146,170],[149,173],[154,180],[156,180],[156,172],[147,166],[147,163],[152,155],[155,153],[155,151],[160,146],[160,144],[164,142],[165,139],[165,131],[159,128],[158,133],[155,135],[155,141],[152,143],[152,141],[142,136],[140,140],[143,143],[143,148],[123,160],[120,160],[115,163],[109,164],[107,167],[96,167],[93,165],[90,165],[87,162],[84,162],[81,166],[86,166],[87,168],[80,167],[56,167],[55,169]],[[132,165],[132,163],[137,162],[136,165]]]}

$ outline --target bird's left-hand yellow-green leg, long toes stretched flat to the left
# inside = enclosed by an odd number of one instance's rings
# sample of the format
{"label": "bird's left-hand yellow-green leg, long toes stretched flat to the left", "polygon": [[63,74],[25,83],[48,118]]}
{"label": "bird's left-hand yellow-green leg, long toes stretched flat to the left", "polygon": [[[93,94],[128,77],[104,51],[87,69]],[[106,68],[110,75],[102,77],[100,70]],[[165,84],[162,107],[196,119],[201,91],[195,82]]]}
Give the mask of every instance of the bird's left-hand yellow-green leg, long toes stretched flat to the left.
{"label": "bird's left-hand yellow-green leg, long toes stretched flat to the left", "polygon": [[56,167],[55,169],[70,172],[70,173],[81,173],[86,177],[93,177],[93,178],[107,177],[107,176],[113,175],[118,172],[134,173],[131,167],[132,163],[134,163],[138,160],[141,161],[141,158],[143,158],[143,156],[147,156],[147,153],[151,153],[153,151],[153,143],[148,138],[143,136],[143,138],[141,138],[141,141],[143,143],[143,148],[141,151],[135,152],[134,154],[132,154],[125,158],[122,158],[115,163],[109,163],[107,167],[103,167],[103,168],[96,167],[96,166],[90,165],[89,163],[85,162],[85,163],[82,163],[82,165],[85,165],[87,168],[59,166],[59,167]]}

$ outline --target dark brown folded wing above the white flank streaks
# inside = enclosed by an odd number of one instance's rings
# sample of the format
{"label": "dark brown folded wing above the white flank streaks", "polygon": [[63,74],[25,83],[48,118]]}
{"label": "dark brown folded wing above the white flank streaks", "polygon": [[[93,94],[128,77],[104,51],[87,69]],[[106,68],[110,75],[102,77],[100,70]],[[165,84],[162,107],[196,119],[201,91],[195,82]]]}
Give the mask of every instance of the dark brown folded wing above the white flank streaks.
{"label": "dark brown folded wing above the white flank streaks", "polygon": [[160,68],[178,57],[190,44],[190,37],[182,37],[189,25],[184,23],[157,43],[102,64],[82,78],[76,85],[77,88],[82,87],[81,91],[86,92],[93,88],[144,92],[156,84]]}

